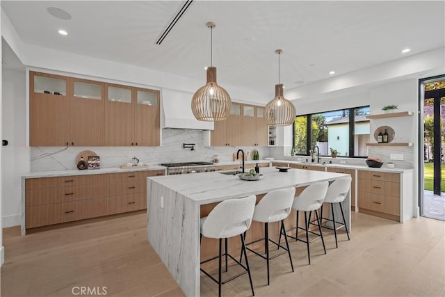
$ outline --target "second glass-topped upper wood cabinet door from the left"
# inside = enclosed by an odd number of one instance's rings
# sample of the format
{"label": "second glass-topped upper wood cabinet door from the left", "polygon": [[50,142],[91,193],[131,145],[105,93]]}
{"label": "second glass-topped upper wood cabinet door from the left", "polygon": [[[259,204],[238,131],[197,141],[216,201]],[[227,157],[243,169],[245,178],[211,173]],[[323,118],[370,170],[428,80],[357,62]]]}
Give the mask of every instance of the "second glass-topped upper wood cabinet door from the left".
{"label": "second glass-topped upper wood cabinet door from the left", "polygon": [[105,144],[104,83],[73,79],[70,135],[72,145],[102,146]]}

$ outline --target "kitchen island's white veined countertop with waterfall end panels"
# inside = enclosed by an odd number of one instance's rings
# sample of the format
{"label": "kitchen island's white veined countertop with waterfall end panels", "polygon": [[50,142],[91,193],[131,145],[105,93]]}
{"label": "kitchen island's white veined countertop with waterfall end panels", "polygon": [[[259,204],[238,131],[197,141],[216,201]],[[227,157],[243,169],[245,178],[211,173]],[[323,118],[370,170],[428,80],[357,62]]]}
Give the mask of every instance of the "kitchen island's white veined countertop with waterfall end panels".
{"label": "kitchen island's white veined countertop with waterfall end panels", "polygon": [[[220,172],[149,177],[147,238],[186,296],[200,296],[200,208],[231,198],[333,181],[348,175],[261,168],[259,181],[243,181]],[[350,230],[350,195],[344,201]]]}

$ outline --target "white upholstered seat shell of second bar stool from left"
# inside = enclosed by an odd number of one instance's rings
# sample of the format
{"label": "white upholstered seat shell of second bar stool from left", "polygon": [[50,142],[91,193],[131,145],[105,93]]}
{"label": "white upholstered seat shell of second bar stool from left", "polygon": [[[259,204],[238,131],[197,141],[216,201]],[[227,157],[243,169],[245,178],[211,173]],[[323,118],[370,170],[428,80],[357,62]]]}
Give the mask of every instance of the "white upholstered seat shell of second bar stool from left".
{"label": "white upholstered seat shell of second bar stool from left", "polygon": [[270,191],[259,200],[253,219],[268,223],[284,220],[291,213],[295,188]]}

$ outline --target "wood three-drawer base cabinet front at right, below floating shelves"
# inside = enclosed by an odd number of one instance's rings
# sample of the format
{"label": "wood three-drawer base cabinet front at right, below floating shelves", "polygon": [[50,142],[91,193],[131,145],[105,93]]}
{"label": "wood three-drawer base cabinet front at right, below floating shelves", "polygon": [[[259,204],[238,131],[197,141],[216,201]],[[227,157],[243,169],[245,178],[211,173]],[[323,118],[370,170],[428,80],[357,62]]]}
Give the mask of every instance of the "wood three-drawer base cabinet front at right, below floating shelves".
{"label": "wood three-drawer base cabinet front at right, below floating shelves", "polygon": [[358,207],[365,214],[400,221],[401,175],[358,170]]}

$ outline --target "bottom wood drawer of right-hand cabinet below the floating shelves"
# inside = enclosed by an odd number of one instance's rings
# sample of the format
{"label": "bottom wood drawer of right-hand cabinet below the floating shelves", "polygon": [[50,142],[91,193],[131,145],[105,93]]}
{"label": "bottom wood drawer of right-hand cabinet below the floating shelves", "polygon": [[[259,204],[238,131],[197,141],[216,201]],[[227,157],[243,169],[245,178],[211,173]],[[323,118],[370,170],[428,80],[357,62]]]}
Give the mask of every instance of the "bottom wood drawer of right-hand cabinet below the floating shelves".
{"label": "bottom wood drawer of right-hand cabinet below the floating shelves", "polygon": [[393,196],[378,195],[359,191],[358,206],[385,214],[400,216],[401,200]]}

